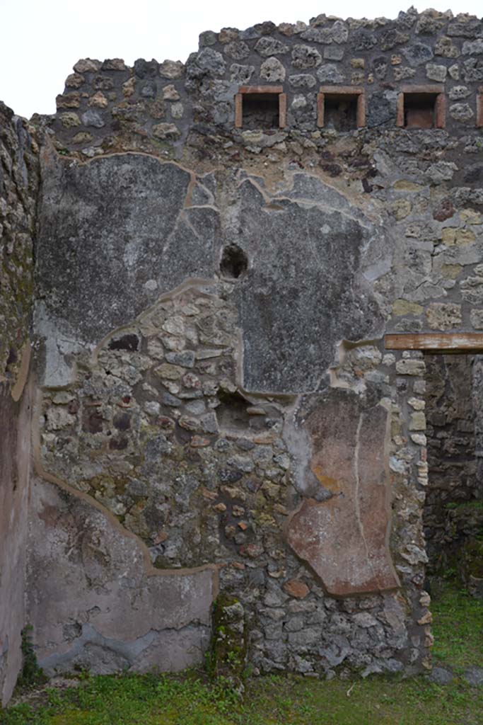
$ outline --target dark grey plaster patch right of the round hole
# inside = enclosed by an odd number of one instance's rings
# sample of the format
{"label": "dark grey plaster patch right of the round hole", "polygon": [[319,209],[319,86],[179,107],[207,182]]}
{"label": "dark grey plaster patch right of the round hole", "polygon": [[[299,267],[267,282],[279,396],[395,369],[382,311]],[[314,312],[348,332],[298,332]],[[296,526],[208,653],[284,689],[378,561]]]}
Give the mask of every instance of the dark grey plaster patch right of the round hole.
{"label": "dark grey plaster patch right of the round hole", "polygon": [[235,297],[251,391],[314,390],[338,341],[382,329],[363,275],[377,228],[322,182],[300,175],[289,194],[305,198],[269,204],[250,181],[240,190],[233,233],[250,267]]}

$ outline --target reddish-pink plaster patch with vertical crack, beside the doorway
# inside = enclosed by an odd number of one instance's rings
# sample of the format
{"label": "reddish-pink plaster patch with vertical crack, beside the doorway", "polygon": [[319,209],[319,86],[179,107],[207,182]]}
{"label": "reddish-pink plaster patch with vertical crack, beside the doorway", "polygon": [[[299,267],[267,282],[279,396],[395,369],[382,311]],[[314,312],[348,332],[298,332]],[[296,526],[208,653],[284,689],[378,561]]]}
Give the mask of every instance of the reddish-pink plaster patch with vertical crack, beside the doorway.
{"label": "reddish-pink plaster patch with vertical crack, beside the doorway", "polygon": [[332,595],[394,589],[387,410],[365,407],[342,389],[309,405],[310,468],[329,498],[303,501],[287,525],[287,541]]}

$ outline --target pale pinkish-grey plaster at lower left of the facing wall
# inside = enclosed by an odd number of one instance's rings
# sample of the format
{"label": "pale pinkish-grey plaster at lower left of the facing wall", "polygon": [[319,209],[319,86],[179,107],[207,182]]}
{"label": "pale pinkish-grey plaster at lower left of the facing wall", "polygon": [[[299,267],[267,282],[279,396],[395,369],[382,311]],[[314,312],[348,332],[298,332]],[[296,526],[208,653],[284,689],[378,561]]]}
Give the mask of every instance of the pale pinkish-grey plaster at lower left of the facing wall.
{"label": "pale pinkish-grey plaster at lower left of the facing wall", "polygon": [[213,570],[146,571],[134,537],[55,484],[35,478],[32,502],[28,608],[41,667],[178,671],[203,660]]}

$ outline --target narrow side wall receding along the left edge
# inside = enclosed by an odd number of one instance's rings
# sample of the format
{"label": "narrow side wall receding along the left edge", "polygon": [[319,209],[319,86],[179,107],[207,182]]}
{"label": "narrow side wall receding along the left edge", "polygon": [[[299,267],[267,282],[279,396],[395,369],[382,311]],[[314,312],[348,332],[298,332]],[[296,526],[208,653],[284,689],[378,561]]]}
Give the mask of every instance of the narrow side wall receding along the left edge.
{"label": "narrow side wall receding along the left edge", "polygon": [[0,703],[22,666],[30,478],[30,317],[37,147],[0,104]]}

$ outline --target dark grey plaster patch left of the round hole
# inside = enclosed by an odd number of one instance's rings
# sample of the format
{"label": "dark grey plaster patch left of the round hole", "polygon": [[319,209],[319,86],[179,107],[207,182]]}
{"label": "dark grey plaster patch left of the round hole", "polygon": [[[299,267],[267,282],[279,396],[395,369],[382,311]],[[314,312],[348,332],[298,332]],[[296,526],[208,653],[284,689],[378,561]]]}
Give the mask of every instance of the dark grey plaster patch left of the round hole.
{"label": "dark grey plaster patch left of the round hole", "polygon": [[[86,165],[44,159],[38,286],[46,318],[98,341],[159,293],[211,276],[217,212],[185,209],[190,181],[181,167],[141,154]],[[156,289],[146,286],[151,279]]]}

